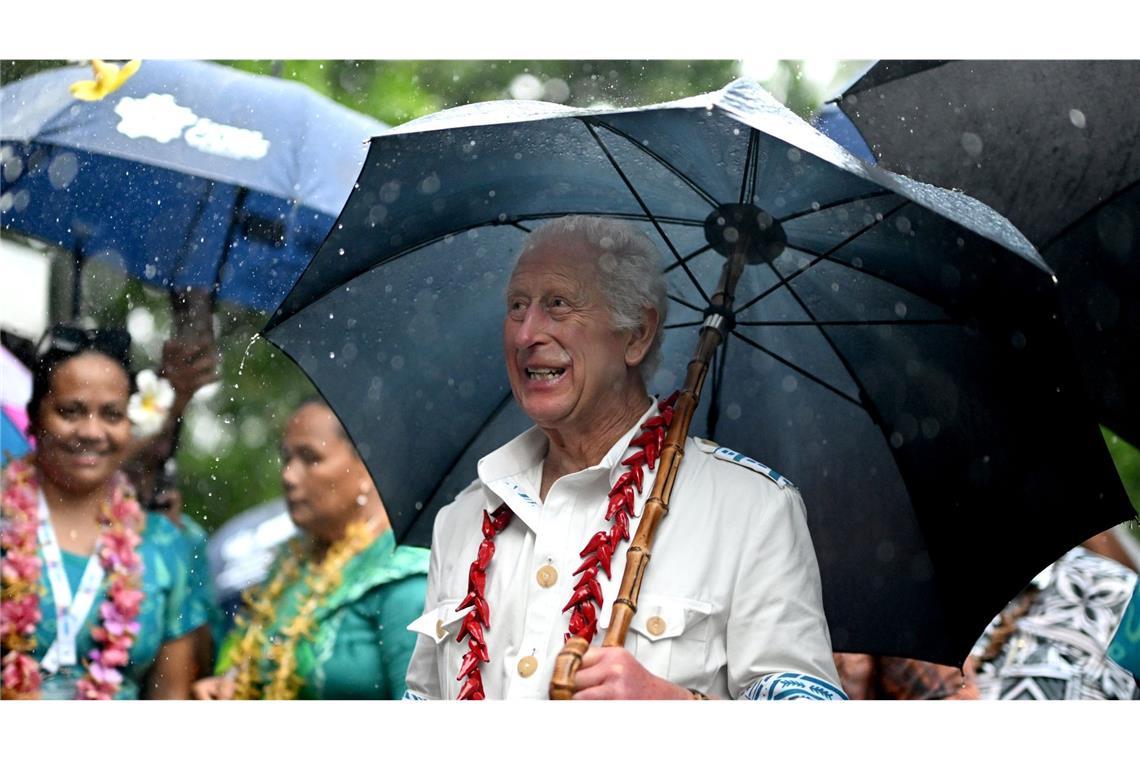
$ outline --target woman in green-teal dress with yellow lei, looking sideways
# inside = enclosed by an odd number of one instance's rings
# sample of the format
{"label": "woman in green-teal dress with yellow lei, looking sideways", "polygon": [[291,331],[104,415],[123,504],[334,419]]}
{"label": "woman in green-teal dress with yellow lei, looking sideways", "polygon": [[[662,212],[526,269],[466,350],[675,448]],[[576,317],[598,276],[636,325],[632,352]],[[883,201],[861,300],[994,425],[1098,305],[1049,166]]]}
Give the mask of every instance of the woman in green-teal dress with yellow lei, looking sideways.
{"label": "woman in green-teal dress with yellow lei, looking sideways", "polygon": [[198,698],[400,698],[423,611],[427,550],[398,547],[364,461],[332,410],[303,404],[282,442],[302,531],[222,644]]}

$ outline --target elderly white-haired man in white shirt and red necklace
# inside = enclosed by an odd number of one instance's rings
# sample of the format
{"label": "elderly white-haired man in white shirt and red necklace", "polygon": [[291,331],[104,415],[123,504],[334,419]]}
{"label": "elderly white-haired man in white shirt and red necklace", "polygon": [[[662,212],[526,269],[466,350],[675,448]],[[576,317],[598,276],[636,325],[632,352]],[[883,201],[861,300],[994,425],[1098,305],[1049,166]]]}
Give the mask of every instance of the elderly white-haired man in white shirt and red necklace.
{"label": "elderly white-haired man in white shirt and red necklace", "polygon": [[564,216],[527,238],[503,341],[535,426],[435,520],[407,698],[543,698],[571,634],[595,644],[575,698],[845,698],[799,492],[709,441],[686,444],[625,647],[596,646],[671,416],[646,392],[660,269],[627,222]]}

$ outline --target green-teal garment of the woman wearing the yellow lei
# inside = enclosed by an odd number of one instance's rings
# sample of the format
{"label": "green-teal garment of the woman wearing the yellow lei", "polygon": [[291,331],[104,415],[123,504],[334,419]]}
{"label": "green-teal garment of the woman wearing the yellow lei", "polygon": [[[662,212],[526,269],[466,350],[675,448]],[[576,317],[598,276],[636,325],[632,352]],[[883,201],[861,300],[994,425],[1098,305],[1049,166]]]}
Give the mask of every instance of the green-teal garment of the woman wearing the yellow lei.
{"label": "green-teal garment of the woman wearing the yellow lei", "polygon": [[[407,627],[423,613],[429,556],[427,549],[397,547],[389,530],[344,565],[340,587],[314,616],[312,641],[298,645],[298,675],[304,681],[298,698],[398,700],[404,695],[416,643],[416,634]],[[267,631],[270,636],[295,616],[307,596],[307,574],[308,567],[282,593],[276,621]],[[234,664],[230,660],[241,635],[235,629],[223,644],[219,673]],[[272,672],[264,656],[259,671]]]}

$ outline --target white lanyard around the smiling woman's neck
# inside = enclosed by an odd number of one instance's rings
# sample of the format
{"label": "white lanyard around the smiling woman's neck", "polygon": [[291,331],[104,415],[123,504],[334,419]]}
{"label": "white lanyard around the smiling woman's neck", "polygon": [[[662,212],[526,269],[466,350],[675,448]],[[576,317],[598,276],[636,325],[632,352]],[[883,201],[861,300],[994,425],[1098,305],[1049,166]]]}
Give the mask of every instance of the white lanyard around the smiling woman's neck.
{"label": "white lanyard around the smiling woman's neck", "polygon": [[39,497],[40,524],[36,534],[48,567],[48,582],[51,586],[51,598],[56,608],[56,640],[48,647],[40,661],[40,667],[54,673],[62,665],[74,665],[79,662],[75,639],[95,604],[95,595],[99,590],[99,585],[103,583],[104,570],[99,563],[99,542],[97,541],[95,550],[87,561],[87,567],[83,569],[83,578],[79,582],[75,597],[72,598],[71,583],[67,582],[67,572],[64,570],[59,541],[56,540],[56,531],[51,528],[51,514],[48,512],[48,500],[42,490],[40,490]]}

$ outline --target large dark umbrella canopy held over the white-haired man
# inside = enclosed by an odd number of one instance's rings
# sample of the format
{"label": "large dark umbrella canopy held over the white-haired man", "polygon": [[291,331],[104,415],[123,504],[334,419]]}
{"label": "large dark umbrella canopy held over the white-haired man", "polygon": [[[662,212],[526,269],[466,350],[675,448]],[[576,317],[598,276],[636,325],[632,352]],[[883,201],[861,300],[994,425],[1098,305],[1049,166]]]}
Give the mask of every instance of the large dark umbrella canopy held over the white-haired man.
{"label": "large dark umbrella canopy held over the white-haired man", "polygon": [[1037,570],[1132,514],[1033,247],[755,83],[617,112],[442,112],[374,139],[358,186],[264,334],[344,423],[400,540],[426,545],[478,457],[529,425],[503,299],[528,230],[567,213],[630,220],[662,251],[663,393],[727,230],[763,228],[694,432],[800,487],[837,648],[960,662]]}

